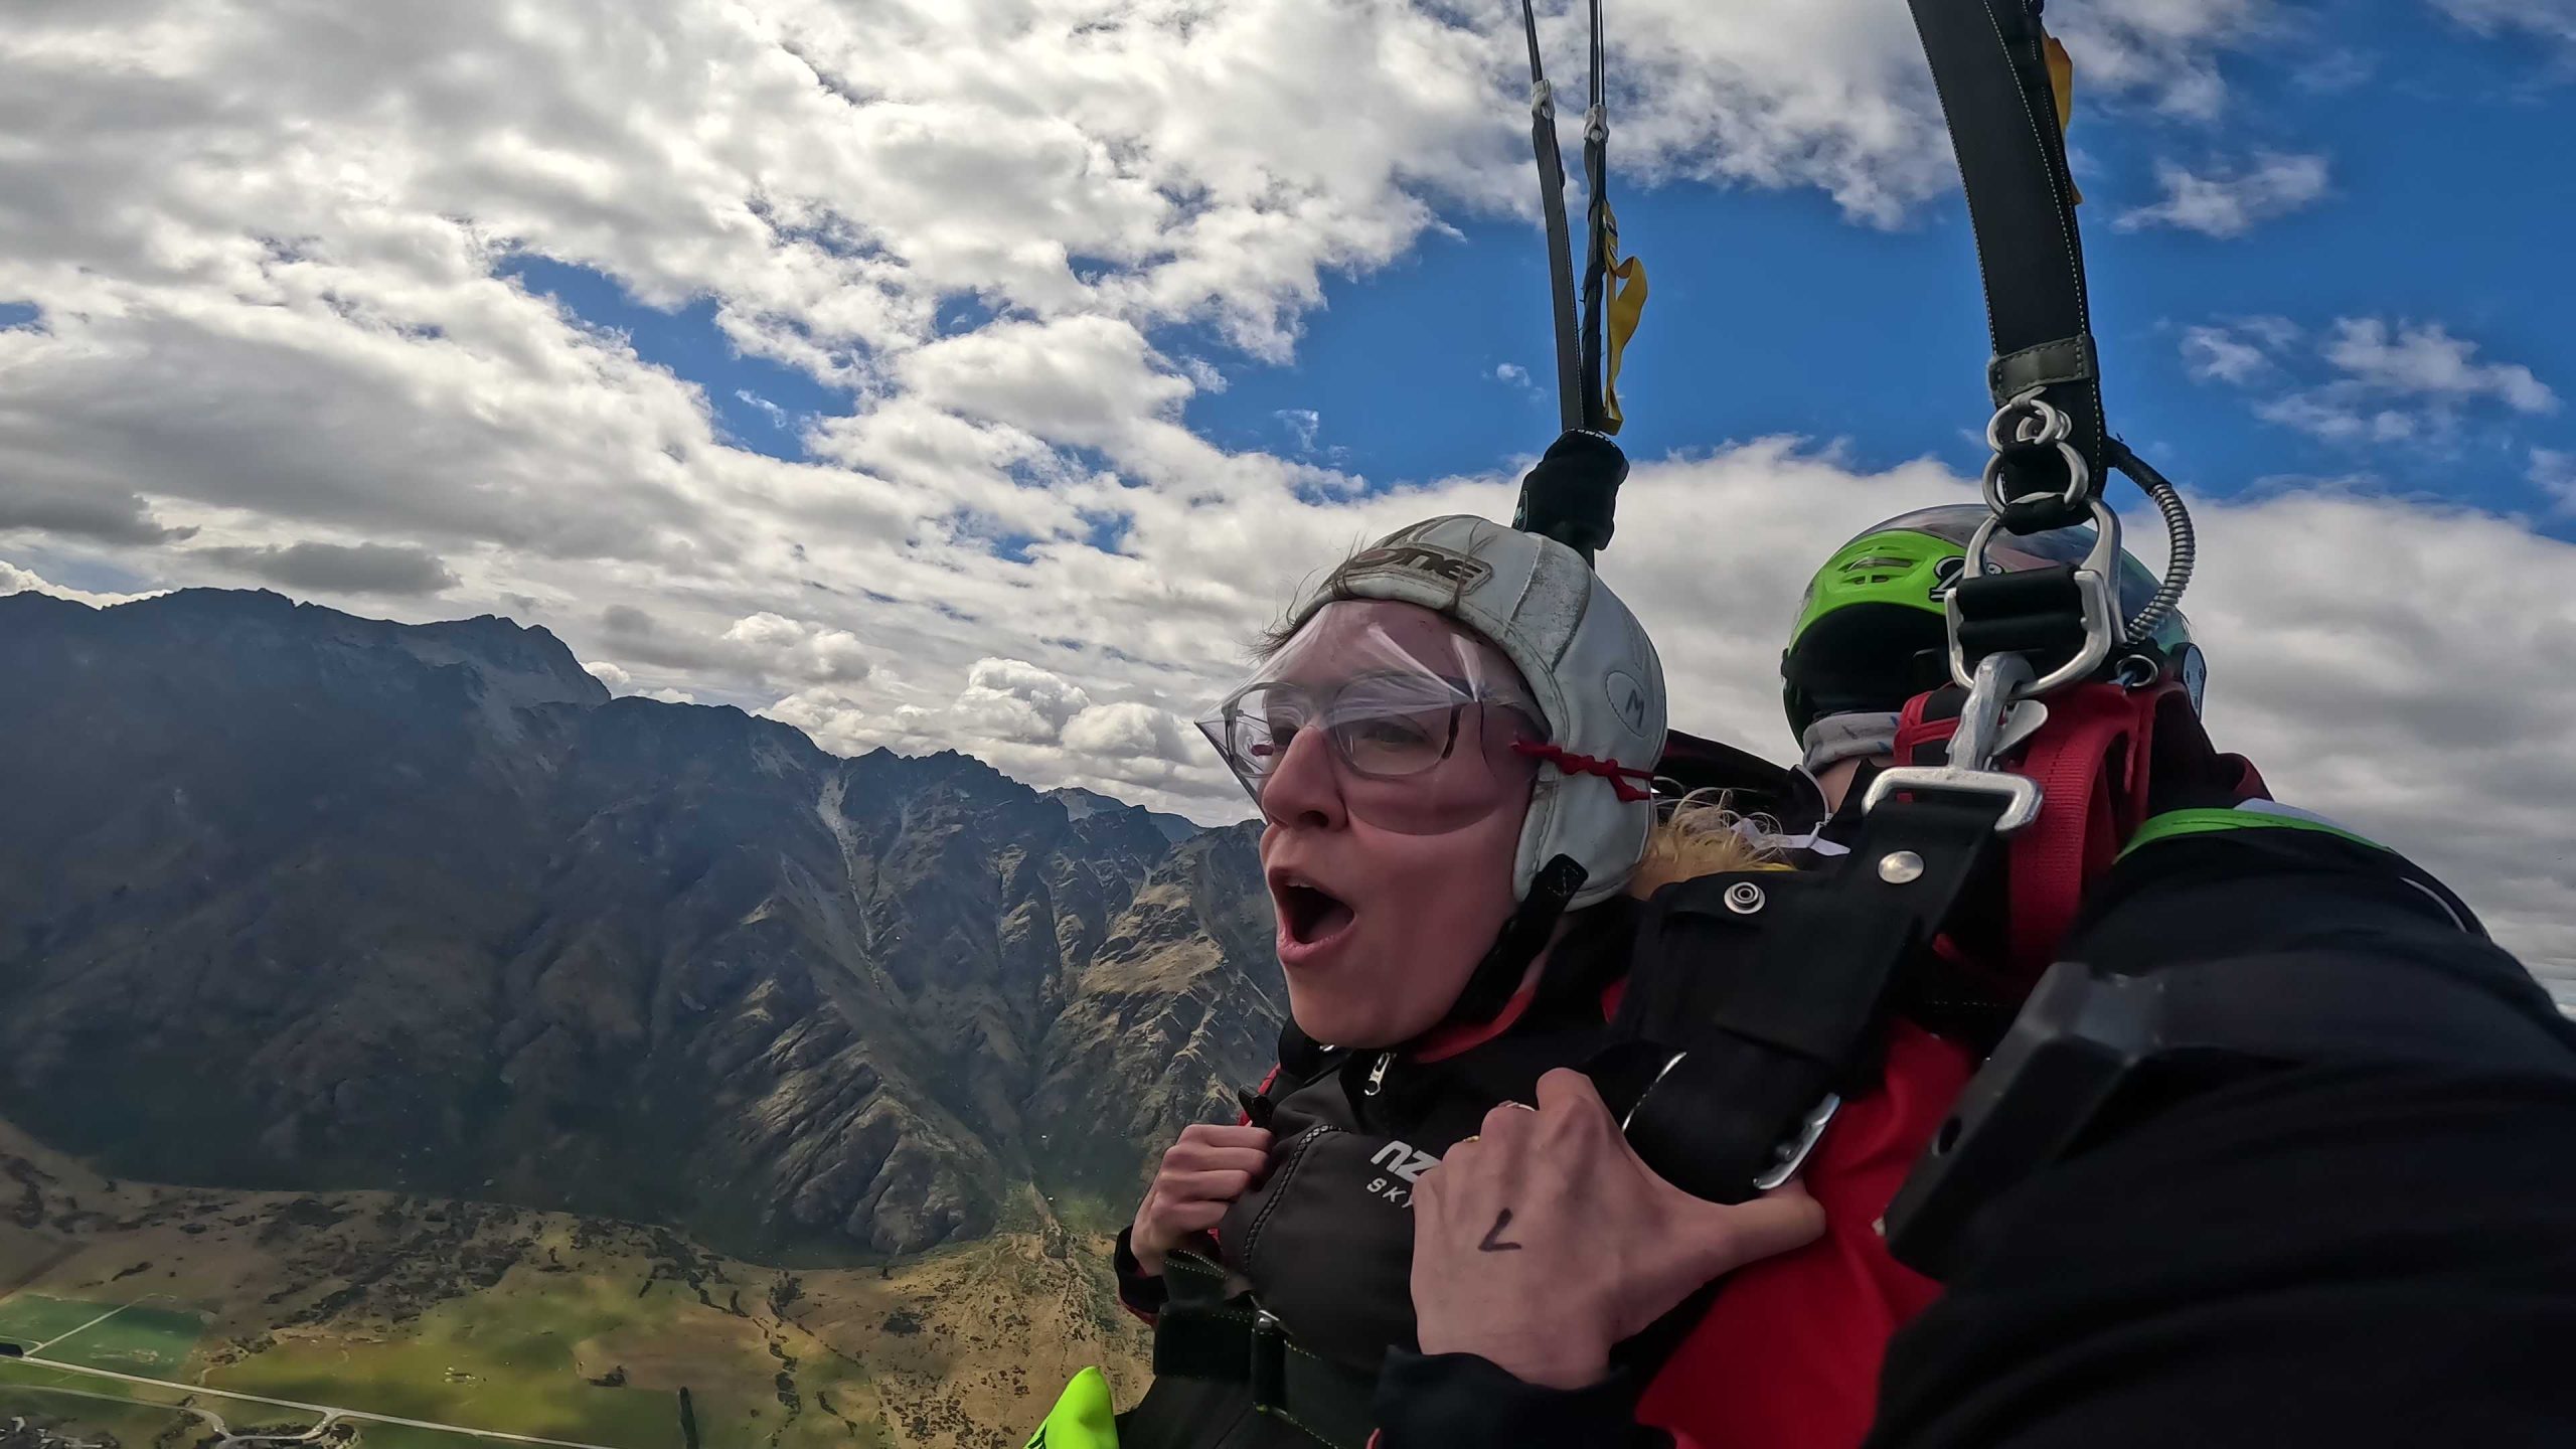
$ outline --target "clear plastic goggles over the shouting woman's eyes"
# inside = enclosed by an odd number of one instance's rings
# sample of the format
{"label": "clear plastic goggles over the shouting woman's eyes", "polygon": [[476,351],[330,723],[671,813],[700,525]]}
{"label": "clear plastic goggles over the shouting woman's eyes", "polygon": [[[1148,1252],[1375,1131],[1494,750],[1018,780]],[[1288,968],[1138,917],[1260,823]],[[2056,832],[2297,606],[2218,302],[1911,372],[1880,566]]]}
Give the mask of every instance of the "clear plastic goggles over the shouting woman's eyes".
{"label": "clear plastic goggles over the shouting woman's eyes", "polygon": [[1198,730],[1265,817],[1332,792],[1368,825],[1437,835],[1528,802],[1538,719],[1502,650],[1430,608],[1337,601]]}

